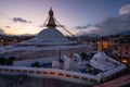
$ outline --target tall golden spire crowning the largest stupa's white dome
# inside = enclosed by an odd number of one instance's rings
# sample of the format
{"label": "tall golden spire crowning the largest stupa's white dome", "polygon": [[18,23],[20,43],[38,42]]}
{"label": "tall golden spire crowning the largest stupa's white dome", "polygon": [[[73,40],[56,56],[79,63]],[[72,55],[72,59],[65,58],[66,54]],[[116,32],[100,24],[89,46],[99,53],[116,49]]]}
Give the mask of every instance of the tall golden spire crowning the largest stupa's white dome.
{"label": "tall golden spire crowning the largest stupa's white dome", "polygon": [[47,27],[49,28],[55,28],[56,24],[55,24],[55,21],[54,21],[54,17],[53,17],[53,11],[52,11],[52,8],[50,9],[49,11],[49,22],[47,24]]}

